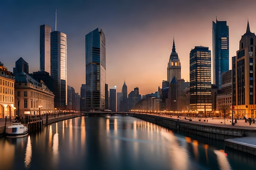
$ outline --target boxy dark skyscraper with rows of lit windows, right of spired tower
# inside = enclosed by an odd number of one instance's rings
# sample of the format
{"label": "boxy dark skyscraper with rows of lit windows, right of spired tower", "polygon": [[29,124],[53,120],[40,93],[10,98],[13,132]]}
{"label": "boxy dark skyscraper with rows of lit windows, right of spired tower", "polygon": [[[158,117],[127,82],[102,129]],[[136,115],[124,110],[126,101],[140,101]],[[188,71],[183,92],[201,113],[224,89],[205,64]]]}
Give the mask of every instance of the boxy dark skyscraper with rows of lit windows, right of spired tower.
{"label": "boxy dark skyscraper with rows of lit windows, right of spired tower", "polygon": [[211,51],[195,46],[190,51],[190,109],[211,111]]}

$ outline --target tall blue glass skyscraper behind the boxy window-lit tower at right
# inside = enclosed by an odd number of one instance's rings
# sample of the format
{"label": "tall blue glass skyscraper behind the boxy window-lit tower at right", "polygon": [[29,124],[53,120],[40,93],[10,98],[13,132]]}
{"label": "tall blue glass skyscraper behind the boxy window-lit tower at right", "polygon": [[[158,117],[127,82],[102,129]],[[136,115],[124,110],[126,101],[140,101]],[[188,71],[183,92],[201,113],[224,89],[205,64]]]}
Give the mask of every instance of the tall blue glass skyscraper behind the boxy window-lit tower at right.
{"label": "tall blue glass skyscraper behind the boxy window-lit tower at right", "polygon": [[229,26],[227,21],[213,21],[213,84],[221,88],[221,74],[229,71]]}

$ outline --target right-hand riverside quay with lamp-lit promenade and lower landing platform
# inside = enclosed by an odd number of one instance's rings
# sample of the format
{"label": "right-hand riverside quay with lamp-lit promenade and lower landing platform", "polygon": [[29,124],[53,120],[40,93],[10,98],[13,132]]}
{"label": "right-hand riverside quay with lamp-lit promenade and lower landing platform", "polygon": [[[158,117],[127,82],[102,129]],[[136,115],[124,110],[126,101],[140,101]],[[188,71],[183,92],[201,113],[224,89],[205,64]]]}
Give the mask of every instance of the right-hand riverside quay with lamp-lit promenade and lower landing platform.
{"label": "right-hand riverside quay with lamp-lit promenade and lower landing platform", "polygon": [[252,123],[249,125],[249,122],[245,122],[244,119],[236,120],[237,123],[233,126],[232,119],[229,118],[178,117],[148,114],[135,114],[134,117],[166,128],[224,140],[225,147],[256,155],[256,124]]}

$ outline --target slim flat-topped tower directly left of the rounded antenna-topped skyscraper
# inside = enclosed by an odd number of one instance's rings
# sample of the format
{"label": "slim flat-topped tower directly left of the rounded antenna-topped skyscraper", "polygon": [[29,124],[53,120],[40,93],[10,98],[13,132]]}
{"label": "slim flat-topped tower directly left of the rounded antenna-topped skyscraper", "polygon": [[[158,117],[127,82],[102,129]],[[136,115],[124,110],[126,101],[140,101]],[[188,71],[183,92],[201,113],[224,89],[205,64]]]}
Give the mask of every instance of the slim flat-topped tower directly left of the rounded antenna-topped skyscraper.
{"label": "slim flat-topped tower directly left of the rounded antenna-topped skyscraper", "polygon": [[51,26],[40,25],[40,71],[51,73]]}

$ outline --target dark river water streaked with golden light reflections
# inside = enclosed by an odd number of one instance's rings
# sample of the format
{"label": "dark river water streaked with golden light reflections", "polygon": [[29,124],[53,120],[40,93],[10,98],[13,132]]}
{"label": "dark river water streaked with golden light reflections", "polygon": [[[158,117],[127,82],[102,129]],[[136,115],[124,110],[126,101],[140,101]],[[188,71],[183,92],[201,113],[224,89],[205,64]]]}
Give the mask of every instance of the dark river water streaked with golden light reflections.
{"label": "dark river water streaked with golden light reflections", "polygon": [[0,170],[236,170],[255,166],[254,158],[243,162],[236,155],[234,161],[233,155],[150,122],[121,116],[76,117],[24,138],[0,138]]}

